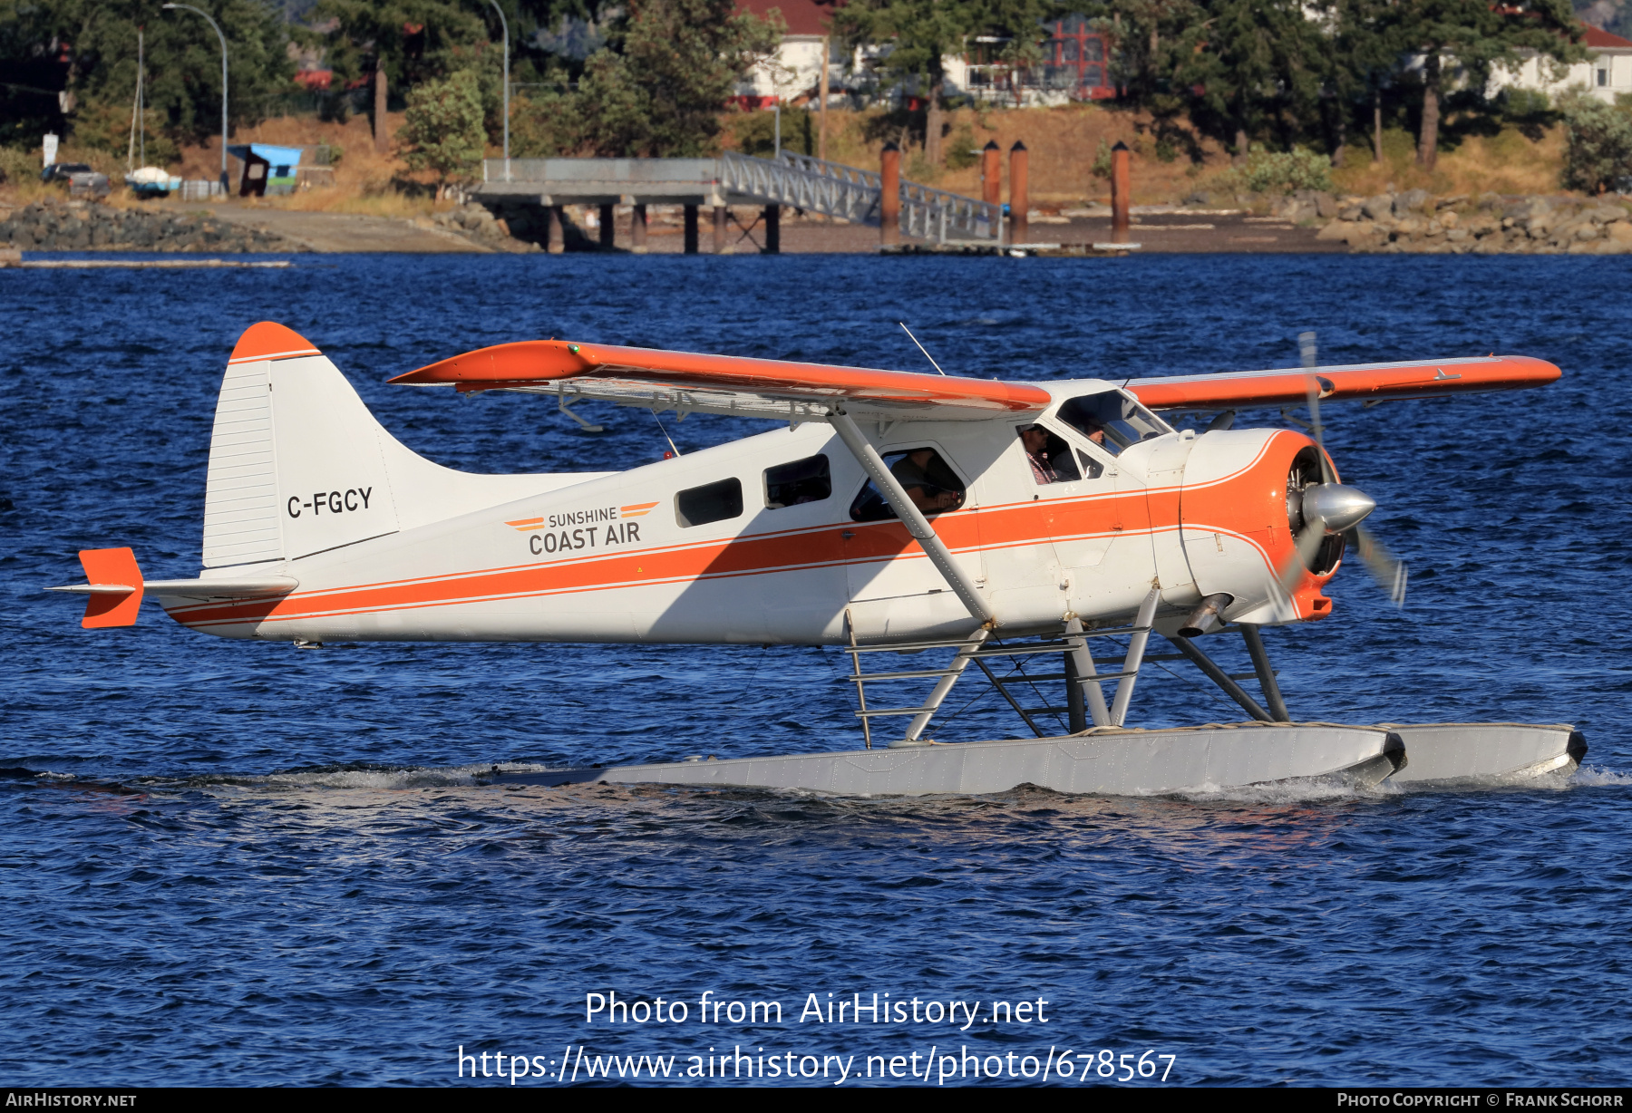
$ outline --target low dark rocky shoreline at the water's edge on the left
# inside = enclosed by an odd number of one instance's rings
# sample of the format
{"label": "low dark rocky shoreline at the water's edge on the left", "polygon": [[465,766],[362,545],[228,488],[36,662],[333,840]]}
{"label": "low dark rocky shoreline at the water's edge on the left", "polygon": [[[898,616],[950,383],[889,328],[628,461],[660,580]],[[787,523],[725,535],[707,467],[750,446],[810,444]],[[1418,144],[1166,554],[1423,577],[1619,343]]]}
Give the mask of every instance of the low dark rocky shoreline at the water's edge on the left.
{"label": "low dark rocky shoreline at the water's edge on the left", "polygon": [[0,211],[0,243],[20,251],[305,251],[266,228],[181,209],[36,201]]}

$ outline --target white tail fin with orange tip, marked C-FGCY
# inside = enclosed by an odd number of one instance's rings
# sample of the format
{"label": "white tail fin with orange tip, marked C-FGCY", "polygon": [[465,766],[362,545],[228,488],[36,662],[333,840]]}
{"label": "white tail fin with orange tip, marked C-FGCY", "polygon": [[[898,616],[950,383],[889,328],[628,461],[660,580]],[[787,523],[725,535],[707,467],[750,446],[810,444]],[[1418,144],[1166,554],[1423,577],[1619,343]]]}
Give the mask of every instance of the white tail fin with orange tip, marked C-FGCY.
{"label": "white tail fin with orange tip, marked C-FGCY", "polygon": [[[374,419],[339,369],[273,321],[238,338],[215,405],[204,568],[261,574],[588,475],[470,475],[418,455]],[[261,565],[261,568],[253,568]]]}

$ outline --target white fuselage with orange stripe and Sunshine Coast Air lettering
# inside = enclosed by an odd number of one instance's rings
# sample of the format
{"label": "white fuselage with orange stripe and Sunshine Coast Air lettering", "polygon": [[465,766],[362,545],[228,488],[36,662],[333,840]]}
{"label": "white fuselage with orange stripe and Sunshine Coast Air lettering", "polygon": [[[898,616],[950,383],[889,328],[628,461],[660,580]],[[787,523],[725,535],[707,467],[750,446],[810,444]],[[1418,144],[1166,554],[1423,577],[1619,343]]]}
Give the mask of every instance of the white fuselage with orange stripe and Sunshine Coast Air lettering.
{"label": "white fuselage with orange stripe and Sunshine Coast Air lettering", "polygon": [[[1030,418],[862,426],[886,460],[934,449],[956,473],[961,503],[930,521],[1002,632],[1116,622],[1152,584],[1165,612],[1224,592],[1235,620],[1324,617],[1333,568],[1291,597],[1278,584],[1288,473],[1307,437],[1160,426],[1116,452],[1058,413],[1113,384],[1041,385],[1054,405],[1036,419],[1072,459],[1058,481],[1040,483],[1027,459]],[[162,602],[207,633],[307,641],[837,645],[976,625],[899,521],[857,519],[867,477],[824,423],[565,486],[537,478],[532,494],[511,498],[526,486],[511,477],[503,503],[263,566],[299,579],[287,596]],[[335,491],[343,512],[366,514],[348,493]],[[297,498],[281,512],[313,509]]]}

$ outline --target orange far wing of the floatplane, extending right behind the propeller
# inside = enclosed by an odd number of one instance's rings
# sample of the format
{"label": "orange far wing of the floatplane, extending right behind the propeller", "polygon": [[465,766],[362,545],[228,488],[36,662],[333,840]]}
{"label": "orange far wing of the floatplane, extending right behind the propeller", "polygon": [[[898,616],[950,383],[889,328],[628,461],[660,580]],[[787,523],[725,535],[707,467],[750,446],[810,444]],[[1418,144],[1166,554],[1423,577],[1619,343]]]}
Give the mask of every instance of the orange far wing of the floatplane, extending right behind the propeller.
{"label": "orange far wing of the floatplane, extending right behind the propeller", "polygon": [[1250,410],[1296,406],[1309,398],[1314,377],[1320,400],[1435,398],[1490,390],[1544,387],[1562,372],[1529,356],[1477,356],[1404,364],[1350,364],[1281,370],[1235,370],[1217,375],[1133,379],[1126,388],[1151,410]]}

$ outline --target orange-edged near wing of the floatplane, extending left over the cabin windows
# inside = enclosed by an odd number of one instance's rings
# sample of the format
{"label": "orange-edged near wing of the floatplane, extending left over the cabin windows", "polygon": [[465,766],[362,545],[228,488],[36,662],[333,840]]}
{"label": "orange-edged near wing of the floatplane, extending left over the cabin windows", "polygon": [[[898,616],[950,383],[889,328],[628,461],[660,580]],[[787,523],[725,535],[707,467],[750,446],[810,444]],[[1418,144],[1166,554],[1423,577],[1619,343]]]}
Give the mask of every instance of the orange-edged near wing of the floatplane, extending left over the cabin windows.
{"label": "orange-edged near wing of the floatplane, extending left over the cabin windows", "polygon": [[969,421],[1040,413],[1041,387],[911,370],[529,339],[481,348],[397,375],[393,384],[460,392],[524,390],[632,406],[785,421],[821,419],[834,406],[876,421]]}

